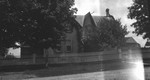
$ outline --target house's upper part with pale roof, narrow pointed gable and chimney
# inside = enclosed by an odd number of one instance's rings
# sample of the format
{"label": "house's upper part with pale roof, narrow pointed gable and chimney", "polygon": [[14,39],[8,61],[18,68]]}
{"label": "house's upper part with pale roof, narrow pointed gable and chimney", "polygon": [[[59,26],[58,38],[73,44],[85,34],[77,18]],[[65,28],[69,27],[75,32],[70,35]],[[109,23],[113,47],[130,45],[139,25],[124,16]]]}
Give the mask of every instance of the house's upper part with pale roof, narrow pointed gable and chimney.
{"label": "house's upper part with pale roof, narrow pointed gable and chimney", "polygon": [[104,19],[114,20],[114,17],[109,13],[109,9],[106,9],[106,16],[92,16],[90,12],[88,12],[85,16],[77,15],[77,22],[83,26],[82,39],[87,38],[87,35],[89,34],[93,34],[98,25],[97,23]]}

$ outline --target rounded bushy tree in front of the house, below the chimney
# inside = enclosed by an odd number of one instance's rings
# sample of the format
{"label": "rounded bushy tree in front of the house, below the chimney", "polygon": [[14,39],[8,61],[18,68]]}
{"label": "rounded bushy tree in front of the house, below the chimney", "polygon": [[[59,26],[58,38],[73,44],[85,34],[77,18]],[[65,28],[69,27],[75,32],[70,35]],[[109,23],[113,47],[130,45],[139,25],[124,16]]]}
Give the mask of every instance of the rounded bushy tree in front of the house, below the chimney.
{"label": "rounded bushy tree in front of the house, below the chimney", "polygon": [[86,50],[99,51],[108,48],[120,47],[125,43],[126,26],[121,25],[120,19],[103,18],[97,23],[93,34],[86,41]]}

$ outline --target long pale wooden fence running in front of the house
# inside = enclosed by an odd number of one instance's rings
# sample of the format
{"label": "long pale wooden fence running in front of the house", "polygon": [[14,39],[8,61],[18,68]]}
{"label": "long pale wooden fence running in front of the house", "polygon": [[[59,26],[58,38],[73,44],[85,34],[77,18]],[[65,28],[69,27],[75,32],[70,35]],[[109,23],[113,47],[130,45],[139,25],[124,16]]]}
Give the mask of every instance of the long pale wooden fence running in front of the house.
{"label": "long pale wooden fence running in front of the house", "polygon": [[[137,54],[138,53],[138,54]],[[102,52],[91,53],[72,53],[72,54],[60,54],[52,55],[48,58],[49,64],[60,63],[82,63],[82,62],[94,62],[94,61],[108,61],[108,60],[122,60],[130,58],[140,58],[139,50],[125,50],[119,52],[118,50],[109,50]],[[126,57],[125,57],[126,56]],[[135,57],[137,56],[137,57]],[[18,58],[18,59],[1,59],[0,66],[5,65],[30,65],[30,64],[44,64],[45,58]]]}

